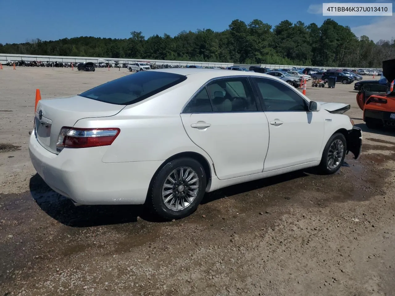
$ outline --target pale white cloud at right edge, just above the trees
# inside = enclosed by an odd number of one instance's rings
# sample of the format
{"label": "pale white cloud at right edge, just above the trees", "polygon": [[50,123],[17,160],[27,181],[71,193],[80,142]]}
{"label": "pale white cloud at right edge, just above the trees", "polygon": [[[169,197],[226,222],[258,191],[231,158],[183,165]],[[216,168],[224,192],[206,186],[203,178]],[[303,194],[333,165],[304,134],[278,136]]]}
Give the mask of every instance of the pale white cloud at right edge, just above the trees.
{"label": "pale white cloud at right edge, just above the trees", "polygon": [[376,22],[372,22],[371,24],[366,24],[362,26],[356,26],[351,28],[352,32],[357,37],[361,37],[362,35],[368,36],[374,42],[379,41],[380,39],[391,40],[395,37],[395,18],[394,17],[380,17],[380,19]]}

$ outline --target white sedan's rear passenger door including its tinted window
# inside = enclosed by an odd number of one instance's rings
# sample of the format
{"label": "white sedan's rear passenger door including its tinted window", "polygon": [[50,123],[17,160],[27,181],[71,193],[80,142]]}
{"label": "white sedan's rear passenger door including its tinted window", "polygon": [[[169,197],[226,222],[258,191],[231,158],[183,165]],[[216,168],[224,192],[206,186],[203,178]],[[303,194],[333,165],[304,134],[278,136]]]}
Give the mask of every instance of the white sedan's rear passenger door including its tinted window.
{"label": "white sedan's rear passenger door including its tinted window", "polygon": [[262,172],[269,127],[248,77],[210,82],[181,119],[190,139],[210,155],[220,180]]}

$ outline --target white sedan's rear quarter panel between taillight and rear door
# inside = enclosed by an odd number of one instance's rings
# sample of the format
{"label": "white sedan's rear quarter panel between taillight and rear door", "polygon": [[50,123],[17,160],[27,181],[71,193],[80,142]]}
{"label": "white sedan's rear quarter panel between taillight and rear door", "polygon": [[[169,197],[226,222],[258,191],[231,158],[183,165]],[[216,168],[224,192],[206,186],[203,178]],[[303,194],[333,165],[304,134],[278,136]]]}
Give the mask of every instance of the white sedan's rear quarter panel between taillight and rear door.
{"label": "white sedan's rear quarter panel between taillight and rear door", "polygon": [[211,165],[209,155],[189,139],[180,116],[199,87],[185,83],[126,106],[115,116],[81,119],[74,127],[120,128],[119,136],[103,155],[105,163],[166,160],[181,152],[196,152]]}

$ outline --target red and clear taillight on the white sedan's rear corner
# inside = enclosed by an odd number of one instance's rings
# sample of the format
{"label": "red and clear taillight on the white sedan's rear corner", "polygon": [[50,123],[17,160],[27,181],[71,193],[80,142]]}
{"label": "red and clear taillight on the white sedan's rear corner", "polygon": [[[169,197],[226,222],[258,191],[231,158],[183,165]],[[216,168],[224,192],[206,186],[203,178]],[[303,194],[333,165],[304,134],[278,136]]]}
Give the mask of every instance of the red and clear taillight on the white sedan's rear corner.
{"label": "red and clear taillight on the white sedan's rear corner", "polygon": [[84,129],[62,127],[56,146],[88,148],[111,145],[120,133],[119,128]]}

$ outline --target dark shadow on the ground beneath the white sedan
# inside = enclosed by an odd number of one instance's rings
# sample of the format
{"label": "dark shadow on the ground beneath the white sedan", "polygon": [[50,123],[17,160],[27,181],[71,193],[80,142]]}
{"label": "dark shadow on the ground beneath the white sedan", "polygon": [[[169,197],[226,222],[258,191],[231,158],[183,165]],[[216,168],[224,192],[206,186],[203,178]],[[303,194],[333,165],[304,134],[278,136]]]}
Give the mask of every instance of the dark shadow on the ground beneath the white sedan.
{"label": "dark shadow on the ground beneath the white sedan", "polygon": [[[317,174],[314,169],[295,171],[256,181],[232,185],[206,193],[201,204],[222,199],[255,189],[261,189],[278,183]],[[150,213],[143,205],[98,205],[75,206],[68,198],[53,191],[40,177],[35,174],[30,178],[30,194],[38,206],[56,221],[70,227],[94,227],[136,222],[138,217],[149,222],[166,222]]]}

